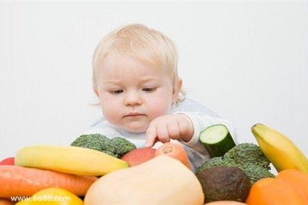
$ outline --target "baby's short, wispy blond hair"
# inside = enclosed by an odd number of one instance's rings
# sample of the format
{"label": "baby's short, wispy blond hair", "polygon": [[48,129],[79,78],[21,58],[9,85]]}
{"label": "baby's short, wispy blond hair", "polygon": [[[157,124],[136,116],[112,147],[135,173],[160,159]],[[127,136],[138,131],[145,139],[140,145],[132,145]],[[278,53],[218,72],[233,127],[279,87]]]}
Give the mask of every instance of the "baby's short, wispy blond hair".
{"label": "baby's short, wispy blond hair", "polygon": [[[155,64],[157,68],[165,69],[172,77],[173,85],[177,83],[177,49],[175,44],[163,33],[141,24],[131,24],[120,27],[105,36],[99,42],[92,59],[92,83],[97,87],[97,72],[103,59],[110,53],[127,55],[146,64]],[[185,98],[185,92],[180,90],[176,103]]]}

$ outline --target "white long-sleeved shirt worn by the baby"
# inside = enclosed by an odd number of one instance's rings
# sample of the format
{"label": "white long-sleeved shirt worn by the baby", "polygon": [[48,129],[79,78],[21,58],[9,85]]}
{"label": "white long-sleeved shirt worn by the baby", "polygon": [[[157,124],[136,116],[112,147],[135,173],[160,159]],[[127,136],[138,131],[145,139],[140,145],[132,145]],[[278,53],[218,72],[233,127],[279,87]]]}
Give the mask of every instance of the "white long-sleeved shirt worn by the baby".
{"label": "white long-sleeved shirt worn by the baby", "polygon": [[[205,128],[214,124],[224,124],[224,126],[227,126],[229,133],[235,140],[235,128],[227,120],[219,118],[214,111],[211,111],[211,109],[208,109],[194,100],[186,98],[183,102],[180,102],[177,107],[172,108],[169,113],[183,113],[192,120],[194,136],[192,136],[192,139],[188,142],[181,140],[179,140],[179,142],[184,145],[184,148],[188,153],[188,158],[190,159],[193,171],[211,158],[205,146],[203,146],[201,141],[199,141],[199,135],[205,130]],[[128,141],[131,141],[131,143],[134,143],[137,148],[142,148],[146,143],[145,133],[129,133],[110,124],[104,117],[101,117],[99,120],[94,122],[88,131],[82,134],[94,133],[100,133],[110,139],[114,137],[123,137]],[[172,140],[172,142],[176,141]],[[157,142],[153,148],[158,148],[161,145],[161,142]]]}

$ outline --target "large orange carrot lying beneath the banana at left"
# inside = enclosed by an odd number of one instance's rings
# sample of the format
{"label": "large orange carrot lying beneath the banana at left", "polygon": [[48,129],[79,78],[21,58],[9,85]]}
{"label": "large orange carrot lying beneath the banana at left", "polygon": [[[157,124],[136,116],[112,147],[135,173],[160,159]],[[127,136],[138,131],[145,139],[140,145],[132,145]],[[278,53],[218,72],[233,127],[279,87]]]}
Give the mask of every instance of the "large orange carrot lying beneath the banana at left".
{"label": "large orange carrot lying beneath the banana at left", "polygon": [[49,187],[60,187],[75,195],[86,195],[90,185],[97,180],[94,176],[77,176],[49,170],[0,166],[0,197],[31,196]]}

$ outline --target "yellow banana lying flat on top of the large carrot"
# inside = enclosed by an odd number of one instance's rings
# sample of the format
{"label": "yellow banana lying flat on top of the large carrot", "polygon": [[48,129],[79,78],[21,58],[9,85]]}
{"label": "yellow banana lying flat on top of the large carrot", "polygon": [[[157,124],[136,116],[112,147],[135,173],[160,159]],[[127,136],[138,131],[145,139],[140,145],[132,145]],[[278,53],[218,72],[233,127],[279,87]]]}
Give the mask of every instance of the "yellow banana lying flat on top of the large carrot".
{"label": "yellow banana lying flat on top of the large carrot", "polygon": [[18,150],[15,165],[89,176],[101,176],[129,166],[103,152],[73,146],[25,147]]}

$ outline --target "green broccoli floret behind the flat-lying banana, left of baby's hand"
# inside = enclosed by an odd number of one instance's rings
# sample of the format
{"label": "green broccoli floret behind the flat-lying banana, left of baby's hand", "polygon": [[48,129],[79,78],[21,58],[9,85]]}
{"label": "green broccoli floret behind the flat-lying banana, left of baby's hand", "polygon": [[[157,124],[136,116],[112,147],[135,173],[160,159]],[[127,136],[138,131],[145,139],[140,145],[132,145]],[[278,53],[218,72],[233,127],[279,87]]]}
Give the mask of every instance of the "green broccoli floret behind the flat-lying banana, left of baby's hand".
{"label": "green broccoli floret behind the flat-lying banana, left of baby's hand", "polygon": [[81,135],[70,146],[98,150],[117,158],[136,149],[136,146],[127,139],[121,137],[109,139],[101,134]]}

